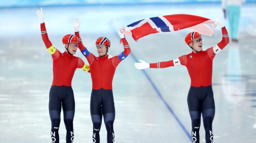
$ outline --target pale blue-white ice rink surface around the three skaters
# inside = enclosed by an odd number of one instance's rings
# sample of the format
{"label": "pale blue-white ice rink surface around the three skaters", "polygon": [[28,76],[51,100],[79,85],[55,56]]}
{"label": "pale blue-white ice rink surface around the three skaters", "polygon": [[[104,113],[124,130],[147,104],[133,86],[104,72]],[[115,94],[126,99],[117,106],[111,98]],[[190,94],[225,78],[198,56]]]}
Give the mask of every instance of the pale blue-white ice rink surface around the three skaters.
{"label": "pale blue-white ice rink surface around the three skaters", "polygon": [[[49,143],[51,122],[48,111],[52,58],[43,43],[38,8],[0,9],[0,142]],[[95,40],[106,36],[109,53],[123,51],[117,29],[135,21],[170,14],[191,14],[223,19],[220,4],[137,5],[91,7],[43,7],[49,39],[61,52],[62,37],[73,33],[72,21],[81,21],[84,45],[97,55]],[[256,140],[256,5],[241,9],[239,42],[230,42],[213,61],[215,117],[214,142],[255,143]],[[134,62],[176,59],[191,49],[184,38],[189,30],[142,37],[137,42],[127,37],[132,53],[122,61],[113,79],[116,108],[116,143],[189,143],[191,120],[187,107],[190,78],[186,67],[137,70]],[[222,38],[217,26],[212,37],[203,36],[203,50]],[[231,40],[230,40],[231,41]],[[75,56],[88,63],[78,50]],[[73,78],[76,110],[75,143],[92,142],[90,117],[91,77],[77,69]],[[61,118],[62,113],[61,113]],[[200,142],[205,142],[203,123]],[[65,143],[61,121],[60,142]],[[104,124],[101,142],[106,142]]]}

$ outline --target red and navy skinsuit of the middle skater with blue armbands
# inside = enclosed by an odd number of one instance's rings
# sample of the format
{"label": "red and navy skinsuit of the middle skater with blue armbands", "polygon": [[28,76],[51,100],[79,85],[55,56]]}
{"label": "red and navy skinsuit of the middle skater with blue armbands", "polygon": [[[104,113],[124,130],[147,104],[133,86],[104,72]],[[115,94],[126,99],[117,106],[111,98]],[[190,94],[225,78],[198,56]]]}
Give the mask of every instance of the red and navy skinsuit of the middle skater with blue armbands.
{"label": "red and navy skinsuit of the middle skater with blue armbands", "polygon": [[100,142],[99,131],[103,114],[104,123],[107,129],[107,143],[114,143],[115,135],[113,123],[115,120],[115,106],[112,81],[117,65],[131,52],[129,44],[127,40],[123,38],[121,39],[124,45],[124,51],[122,53],[112,58],[108,58],[108,55],[105,57],[96,57],[82,44],[79,32],[76,32],[75,35],[79,38],[78,47],[90,65],[92,78],[90,111],[93,122],[93,142]]}

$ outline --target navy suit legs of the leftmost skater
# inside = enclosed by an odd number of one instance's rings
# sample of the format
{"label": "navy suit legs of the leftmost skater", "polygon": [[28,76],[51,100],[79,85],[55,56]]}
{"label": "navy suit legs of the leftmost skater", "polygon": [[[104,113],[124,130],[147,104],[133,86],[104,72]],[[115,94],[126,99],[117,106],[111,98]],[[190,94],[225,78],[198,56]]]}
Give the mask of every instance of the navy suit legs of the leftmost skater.
{"label": "navy suit legs of the leftmost skater", "polygon": [[75,99],[71,86],[52,86],[49,94],[49,113],[52,122],[52,143],[59,143],[59,126],[61,106],[64,123],[67,130],[66,143],[74,141],[73,119],[75,114]]}

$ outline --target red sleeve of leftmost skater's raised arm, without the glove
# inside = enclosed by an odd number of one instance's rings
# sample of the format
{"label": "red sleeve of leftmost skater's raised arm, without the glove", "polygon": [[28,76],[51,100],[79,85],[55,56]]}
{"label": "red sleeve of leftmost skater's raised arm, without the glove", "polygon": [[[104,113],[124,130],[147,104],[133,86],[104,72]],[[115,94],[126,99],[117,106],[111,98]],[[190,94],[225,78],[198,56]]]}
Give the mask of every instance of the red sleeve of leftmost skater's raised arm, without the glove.
{"label": "red sleeve of leftmost skater's raised arm, without the glove", "polygon": [[41,23],[41,35],[42,39],[44,41],[44,44],[47,48],[47,50],[52,54],[52,59],[56,59],[61,54],[59,50],[57,50],[51,43],[51,41],[48,38],[47,31],[45,28],[45,23]]}

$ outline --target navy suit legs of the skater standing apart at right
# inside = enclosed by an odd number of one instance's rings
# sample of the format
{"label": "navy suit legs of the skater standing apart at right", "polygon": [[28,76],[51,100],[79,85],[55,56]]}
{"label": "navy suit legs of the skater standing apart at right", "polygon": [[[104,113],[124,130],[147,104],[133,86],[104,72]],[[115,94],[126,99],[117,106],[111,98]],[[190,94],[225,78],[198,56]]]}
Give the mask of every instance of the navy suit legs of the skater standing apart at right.
{"label": "navy suit legs of the skater standing apart at right", "polygon": [[188,109],[192,121],[192,141],[199,143],[201,113],[205,129],[206,143],[213,142],[212,121],[215,115],[215,104],[212,86],[190,87],[188,92]]}

